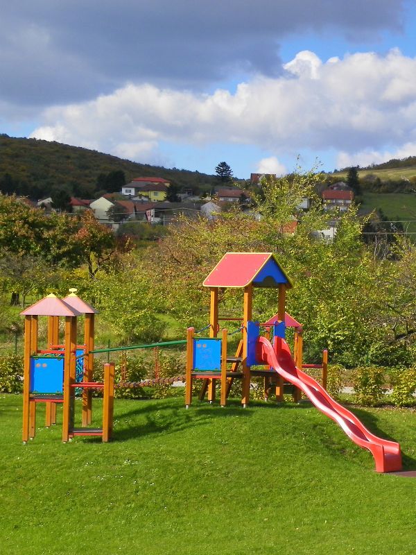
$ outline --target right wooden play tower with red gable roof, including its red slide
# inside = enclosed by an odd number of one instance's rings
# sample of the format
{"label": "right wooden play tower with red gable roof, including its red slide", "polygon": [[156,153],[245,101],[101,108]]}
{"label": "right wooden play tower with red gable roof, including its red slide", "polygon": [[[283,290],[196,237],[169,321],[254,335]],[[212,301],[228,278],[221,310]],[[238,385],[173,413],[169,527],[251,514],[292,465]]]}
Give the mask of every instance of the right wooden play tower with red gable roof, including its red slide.
{"label": "right wooden play tower with red gable roof, including its red slide", "polygon": [[[302,366],[302,334],[295,326],[295,360],[285,341],[286,333],[286,290],[292,284],[272,253],[227,253],[218,262],[204,281],[211,295],[209,337],[196,339],[193,327],[187,333],[187,383],[185,404],[192,402],[192,383],[202,379],[202,393],[208,391],[208,400],[213,401],[215,382],[220,380],[220,404],[225,406],[227,393],[233,379],[241,379],[241,402],[246,407],[250,396],[250,380],[253,376],[265,378],[266,384],[274,381],[277,400],[284,392],[284,381],[293,384],[295,396],[302,391],[322,413],[334,420],[356,445],[369,450],[376,463],[376,472],[397,472],[401,470],[399,443],[374,436],[349,410],[336,402],[313,377],[304,373]],[[235,357],[227,354],[227,329],[221,332],[218,325],[218,290],[225,287],[243,289],[242,340]],[[252,301],[254,287],[278,289],[277,318],[270,326],[253,322]],[[265,334],[260,330],[265,327]],[[296,329],[297,328],[297,329]],[[220,337],[218,337],[218,334]],[[297,334],[297,335],[296,335]],[[231,368],[227,368],[231,364]],[[241,370],[237,371],[238,365]],[[322,370],[326,378],[327,353],[324,352]],[[258,368],[266,366],[266,368]],[[254,368],[252,368],[254,367]],[[266,390],[266,388],[265,388]]]}

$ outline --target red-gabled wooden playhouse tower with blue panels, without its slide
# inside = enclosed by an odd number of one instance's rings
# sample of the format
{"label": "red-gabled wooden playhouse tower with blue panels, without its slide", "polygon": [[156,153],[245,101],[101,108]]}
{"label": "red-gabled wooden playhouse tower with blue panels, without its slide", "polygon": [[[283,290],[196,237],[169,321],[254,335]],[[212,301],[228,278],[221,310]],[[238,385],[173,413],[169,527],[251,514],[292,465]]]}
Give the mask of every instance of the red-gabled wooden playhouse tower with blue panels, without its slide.
{"label": "red-gabled wooden playhouse tower with blue panels, without its slide", "polygon": [[[202,379],[200,398],[208,393],[214,401],[216,380],[220,380],[220,404],[226,404],[227,395],[234,379],[241,379],[241,403],[245,407],[250,400],[250,379],[253,375],[271,376],[277,382],[277,399],[283,398],[283,379],[268,370],[251,370],[256,364],[254,345],[261,324],[252,322],[253,291],[257,287],[277,289],[277,315],[272,325],[273,334],[284,336],[286,291],[292,288],[285,271],[272,253],[227,253],[203,282],[211,296],[209,312],[209,337],[196,338],[193,328],[188,330],[187,384],[185,404],[192,400],[192,383]],[[241,318],[241,341],[235,355],[227,353],[227,330],[221,332],[218,315],[218,291],[227,287],[243,289],[243,317]],[[269,326],[270,327],[270,326]],[[230,367],[229,367],[230,366]],[[265,372],[267,374],[265,374]]]}

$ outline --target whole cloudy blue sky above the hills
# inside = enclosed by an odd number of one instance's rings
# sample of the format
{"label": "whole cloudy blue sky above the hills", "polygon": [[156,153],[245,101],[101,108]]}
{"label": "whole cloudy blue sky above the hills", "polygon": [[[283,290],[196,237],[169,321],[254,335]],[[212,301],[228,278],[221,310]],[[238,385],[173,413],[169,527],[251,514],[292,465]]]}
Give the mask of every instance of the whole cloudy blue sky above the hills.
{"label": "whole cloudy blue sky above the hills", "polygon": [[[414,0],[0,0],[0,133],[236,178],[416,155]],[[1,153],[0,153],[1,155]]]}

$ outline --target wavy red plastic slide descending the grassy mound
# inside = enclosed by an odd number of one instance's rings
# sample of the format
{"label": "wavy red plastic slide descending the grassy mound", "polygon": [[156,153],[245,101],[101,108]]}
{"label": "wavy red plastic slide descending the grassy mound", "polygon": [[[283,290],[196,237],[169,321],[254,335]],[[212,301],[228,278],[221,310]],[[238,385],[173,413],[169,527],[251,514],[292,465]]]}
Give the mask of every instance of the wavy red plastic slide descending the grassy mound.
{"label": "wavy red plastic slide descending the grassy mound", "polygon": [[374,436],[360,420],[341,404],[333,400],[327,391],[311,376],[296,368],[291,350],[284,339],[276,355],[272,344],[266,337],[259,337],[257,343],[258,359],[268,364],[287,382],[302,389],[311,402],[329,418],[332,418],[344,430],[345,434],[360,447],[372,452],[376,461],[376,472],[397,472],[401,470],[401,452],[399,443]]}

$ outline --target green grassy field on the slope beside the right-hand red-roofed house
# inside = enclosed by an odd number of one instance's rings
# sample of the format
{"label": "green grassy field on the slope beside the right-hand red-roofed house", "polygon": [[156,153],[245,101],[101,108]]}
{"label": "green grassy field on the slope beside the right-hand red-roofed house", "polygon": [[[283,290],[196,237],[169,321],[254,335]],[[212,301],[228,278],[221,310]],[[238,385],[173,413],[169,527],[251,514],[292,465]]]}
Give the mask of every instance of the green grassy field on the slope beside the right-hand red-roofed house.
{"label": "green grassy field on the slope beside the right-hand red-roofed house", "polygon": [[381,208],[390,221],[405,221],[404,229],[416,232],[416,194],[406,193],[364,193],[361,212],[371,212]]}

